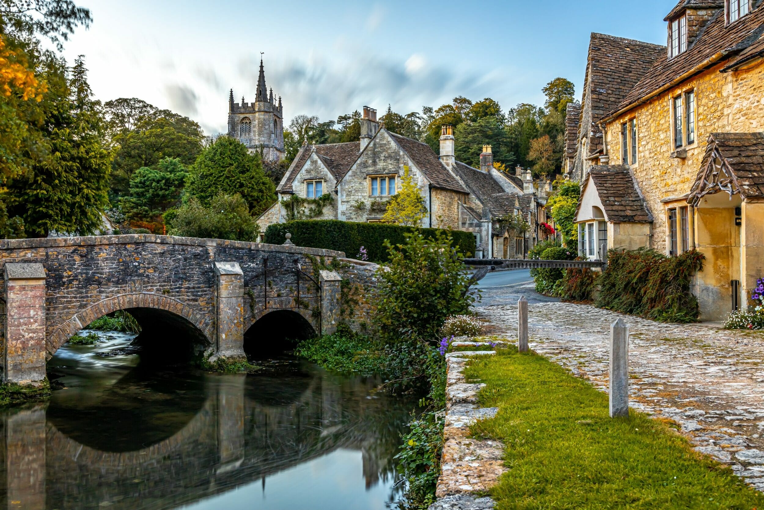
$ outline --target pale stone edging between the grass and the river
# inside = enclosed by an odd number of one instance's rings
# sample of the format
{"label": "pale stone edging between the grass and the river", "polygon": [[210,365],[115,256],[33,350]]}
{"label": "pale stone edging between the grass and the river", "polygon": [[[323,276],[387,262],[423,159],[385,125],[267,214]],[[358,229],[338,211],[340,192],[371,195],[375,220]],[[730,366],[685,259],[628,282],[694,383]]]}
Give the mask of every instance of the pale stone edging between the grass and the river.
{"label": "pale stone edging between the grass and the river", "polygon": [[[488,346],[487,342],[459,339],[455,346]],[[487,492],[505,471],[504,445],[494,440],[468,437],[476,421],[496,416],[498,408],[480,408],[478,391],[484,384],[465,382],[464,369],[473,356],[492,356],[495,351],[452,352],[446,359],[446,413],[443,430],[441,473],[429,510],[484,510],[494,508],[494,500],[475,498],[475,492]]]}

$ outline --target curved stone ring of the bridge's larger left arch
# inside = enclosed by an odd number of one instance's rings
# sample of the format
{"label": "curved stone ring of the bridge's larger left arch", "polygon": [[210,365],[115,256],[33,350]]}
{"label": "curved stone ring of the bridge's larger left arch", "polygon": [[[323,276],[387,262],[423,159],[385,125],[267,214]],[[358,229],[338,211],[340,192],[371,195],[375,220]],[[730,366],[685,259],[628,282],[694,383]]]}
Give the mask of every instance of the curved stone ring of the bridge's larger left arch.
{"label": "curved stone ring of the bridge's larger left arch", "polygon": [[196,336],[208,345],[212,344],[215,338],[214,323],[210,323],[209,319],[188,305],[161,294],[136,292],[108,297],[75,313],[73,317],[50,333],[46,342],[47,359],[50,359],[64,343],[92,321],[118,310],[131,312],[136,316],[138,323],[141,323],[141,316],[146,317],[151,313],[150,310],[154,312],[158,310],[164,312],[163,317],[166,320],[180,318],[188,326],[189,331],[193,330]]}

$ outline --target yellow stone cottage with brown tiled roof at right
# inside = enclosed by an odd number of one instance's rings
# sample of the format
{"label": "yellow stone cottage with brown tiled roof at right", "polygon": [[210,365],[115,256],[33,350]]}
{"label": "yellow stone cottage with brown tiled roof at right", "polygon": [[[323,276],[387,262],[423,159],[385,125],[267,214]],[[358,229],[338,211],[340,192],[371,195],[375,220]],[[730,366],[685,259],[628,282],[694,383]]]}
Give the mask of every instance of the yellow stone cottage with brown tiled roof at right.
{"label": "yellow stone cottage with brown tiled roof at right", "polygon": [[[693,285],[701,318],[722,320],[747,305],[764,276],[764,6],[681,0],[664,21],[668,45],[659,49],[607,39],[617,101],[591,116],[600,119],[599,147],[584,115],[588,97],[599,98],[584,90],[579,139],[589,141],[571,174],[584,185],[581,253],[591,256],[593,245],[596,255],[603,243],[665,255],[698,249],[706,257]],[[592,47],[603,37],[594,34]],[[601,60],[590,50],[593,82]],[[618,70],[626,78],[615,85]],[[579,158],[598,165],[578,171]]]}

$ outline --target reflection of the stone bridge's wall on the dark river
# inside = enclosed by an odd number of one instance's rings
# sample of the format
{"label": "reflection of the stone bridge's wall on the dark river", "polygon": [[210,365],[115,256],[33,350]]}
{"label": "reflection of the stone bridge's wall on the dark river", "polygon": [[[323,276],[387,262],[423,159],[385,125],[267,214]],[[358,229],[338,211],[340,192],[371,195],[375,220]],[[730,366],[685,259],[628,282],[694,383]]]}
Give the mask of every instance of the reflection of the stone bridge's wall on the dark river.
{"label": "reflection of the stone bridge's wall on the dark river", "polygon": [[0,417],[5,508],[99,508],[102,502],[115,510],[176,508],[337,447],[364,451],[367,482],[387,472],[380,460],[397,445],[397,426],[410,411],[406,402],[390,410],[366,398],[366,387],[331,375],[304,379],[280,402],[258,401],[257,377],[249,385],[251,392],[245,375],[207,376],[206,397],[193,419],[166,440],[131,452],[97,450],[63,434],[46,419],[55,401],[6,411]]}

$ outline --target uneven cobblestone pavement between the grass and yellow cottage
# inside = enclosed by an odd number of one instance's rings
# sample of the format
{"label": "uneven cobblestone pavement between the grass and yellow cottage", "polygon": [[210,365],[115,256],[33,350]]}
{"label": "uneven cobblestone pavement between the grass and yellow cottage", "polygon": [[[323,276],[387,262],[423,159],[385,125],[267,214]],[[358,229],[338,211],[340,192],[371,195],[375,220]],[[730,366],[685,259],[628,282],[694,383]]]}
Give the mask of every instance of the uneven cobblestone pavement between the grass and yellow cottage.
{"label": "uneven cobblestone pavement between the grass and yellow cottage", "polygon": [[530,301],[531,349],[603,391],[610,324],[626,320],[631,407],[672,419],[696,450],[764,490],[764,332],[656,323],[589,305],[541,302],[526,285],[484,296],[478,313],[493,333],[516,339],[516,297],[523,293]]}

